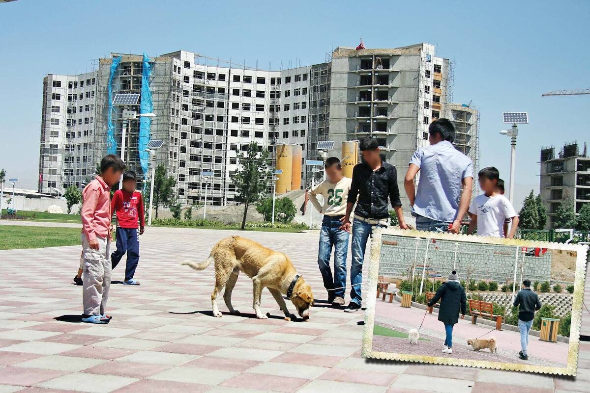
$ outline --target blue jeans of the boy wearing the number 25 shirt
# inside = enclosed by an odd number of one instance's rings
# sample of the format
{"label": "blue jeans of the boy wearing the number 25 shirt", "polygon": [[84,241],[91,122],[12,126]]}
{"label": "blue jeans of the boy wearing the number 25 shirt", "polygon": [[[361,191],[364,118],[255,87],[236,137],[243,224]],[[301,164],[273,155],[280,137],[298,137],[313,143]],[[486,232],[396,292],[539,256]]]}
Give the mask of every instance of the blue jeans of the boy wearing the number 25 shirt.
{"label": "blue jeans of the boy wearing the number 25 shirt", "polygon": [[[340,228],[343,216],[330,217],[324,215],[320,230],[320,247],[317,255],[317,265],[324,280],[324,288],[328,290],[330,298],[344,297],[346,287],[346,257],[348,255],[349,234]],[[334,276],[330,269],[330,254],[334,247]],[[331,291],[331,289],[336,289]]]}

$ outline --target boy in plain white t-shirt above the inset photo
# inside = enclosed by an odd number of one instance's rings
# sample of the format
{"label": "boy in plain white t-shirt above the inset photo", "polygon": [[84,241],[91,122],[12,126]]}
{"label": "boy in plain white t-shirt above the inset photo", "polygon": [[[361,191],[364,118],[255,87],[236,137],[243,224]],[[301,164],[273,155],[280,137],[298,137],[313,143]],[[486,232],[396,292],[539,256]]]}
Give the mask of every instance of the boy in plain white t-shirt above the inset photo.
{"label": "boy in plain white t-shirt above the inset photo", "polygon": [[510,201],[506,196],[500,194],[498,188],[500,172],[493,166],[488,166],[481,169],[478,176],[480,188],[484,194],[477,195],[471,201],[469,207],[471,222],[467,234],[473,233],[473,229],[477,225],[477,235],[503,238],[506,236],[504,221],[510,219],[512,225],[510,225],[510,233],[506,237],[512,239],[519,219]]}

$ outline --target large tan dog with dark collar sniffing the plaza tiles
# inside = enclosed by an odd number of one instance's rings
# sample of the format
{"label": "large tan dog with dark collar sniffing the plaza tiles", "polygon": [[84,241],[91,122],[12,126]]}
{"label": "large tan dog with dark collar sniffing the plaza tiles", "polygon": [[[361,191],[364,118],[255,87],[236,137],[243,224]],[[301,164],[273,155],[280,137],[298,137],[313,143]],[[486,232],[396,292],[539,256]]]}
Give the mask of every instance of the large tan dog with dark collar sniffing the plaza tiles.
{"label": "large tan dog with dark collar sniffing the plaza tiles", "polygon": [[196,270],[207,268],[215,261],[215,289],[211,294],[213,315],[221,317],[217,307],[217,295],[225,287],[223,295],[225,305],[231,314],[240,314],[231,305],[231,291],[234,289],[240,271],[252,279],[254,284],[254,312],[256,317],[268,318],[260,311],[260,295],[264,287],[273,295],[286,317],[291,317],[282,295],[293,302],[297,313],[303,319],[309,318],[309,308],[313,305],[312,288],[291,264],[291,260],[282,252],[273,251],[257,242],[239,236],[232,236],[219,241],[211,250],[209,258],[200,264],[183,262]]}

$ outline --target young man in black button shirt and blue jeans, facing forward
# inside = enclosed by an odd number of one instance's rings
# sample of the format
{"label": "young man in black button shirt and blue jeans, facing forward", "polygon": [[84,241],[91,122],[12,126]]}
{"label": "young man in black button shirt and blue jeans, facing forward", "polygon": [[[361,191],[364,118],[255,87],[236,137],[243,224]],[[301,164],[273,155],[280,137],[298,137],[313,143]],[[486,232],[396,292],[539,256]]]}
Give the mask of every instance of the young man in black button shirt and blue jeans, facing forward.
{"label": "young man in black button shirt and blue jeans, facing forward", "polygon": [[[350,265],[350,303],[345,312],[360,309],[362,297],[363,259],[369,236],[375,227],[387,227],[389,210],[387,198],[395,209],[395,214],[402,229],[408,229],[402,214],[402,203],[399,200],[398,178],[395,166],[381,160],[379,143],[375,138],[363,138],[360,141],[363,155],[361,164],[352,170],[352,184],[346,199],[346,215],[342,218],[342,227],[350,231],[350,213],[356,202],[354,225],[352,225],[352,264]],[[358,196],[358,201],[357,201]]]}

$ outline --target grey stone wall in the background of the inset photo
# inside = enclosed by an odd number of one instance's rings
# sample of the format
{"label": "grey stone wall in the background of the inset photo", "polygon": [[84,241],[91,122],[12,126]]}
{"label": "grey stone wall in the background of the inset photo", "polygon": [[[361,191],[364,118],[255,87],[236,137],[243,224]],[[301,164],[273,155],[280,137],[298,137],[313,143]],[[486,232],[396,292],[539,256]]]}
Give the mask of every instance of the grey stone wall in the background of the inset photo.
{"label": "grey stone wall in the background of the inset photo", "polygon": [[[416,254],[416,246],[418,251]],[[412,266],[416,265],[415,274],[422,274],[424,255],[428,245],[426,261],[426,277],[440,274],[447,278],[450,271],[455,270],[459,279],[467,279],[467,269],[472,270],[470,279],[505,282],[507,277],[512,281],[514,276],[514,262],[518,254],[517,282],[528,278],[531,281],[550,281],[551,251],[539,257],[524,257],[520,247],[484,244],[476,242],[453,242],[448,240],[417,239],[395,235],[382,235],[381,260],[379,261],[379,275],[407,277],[411,274]],[[455,264],[455,249],[457,251]],[[416,255],[416,257],[415,257]],[[415,264],[413,263],[413,261]],[[523,262],[524,261],[524,262]],[[524,263],[524,265],[523,265]],[[524,267],[521,278],[520,269]],[[430,277],[429,277],[430,278]]]}

